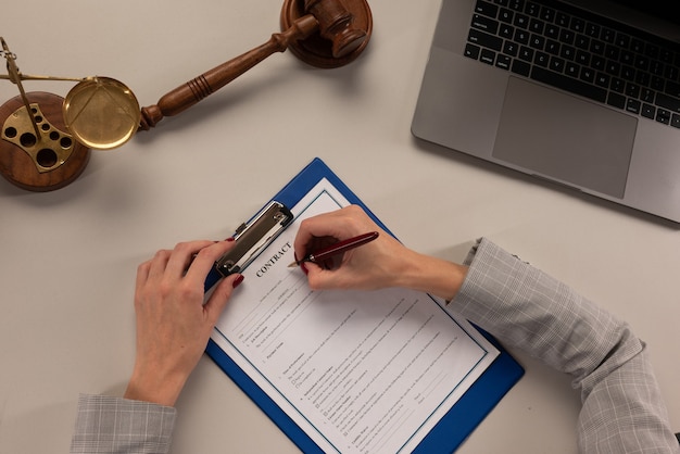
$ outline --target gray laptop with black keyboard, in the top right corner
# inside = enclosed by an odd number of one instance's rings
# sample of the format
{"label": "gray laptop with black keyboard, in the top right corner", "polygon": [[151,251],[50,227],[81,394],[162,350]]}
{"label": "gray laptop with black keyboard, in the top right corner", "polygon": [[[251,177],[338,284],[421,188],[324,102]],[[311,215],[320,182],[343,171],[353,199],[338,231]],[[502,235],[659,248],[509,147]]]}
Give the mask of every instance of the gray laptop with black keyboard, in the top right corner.
{"label": "gray laptop with black keyboard, in the top right corner", "polygon": [[443,0],[414,136],[680,223],[672,0]]}

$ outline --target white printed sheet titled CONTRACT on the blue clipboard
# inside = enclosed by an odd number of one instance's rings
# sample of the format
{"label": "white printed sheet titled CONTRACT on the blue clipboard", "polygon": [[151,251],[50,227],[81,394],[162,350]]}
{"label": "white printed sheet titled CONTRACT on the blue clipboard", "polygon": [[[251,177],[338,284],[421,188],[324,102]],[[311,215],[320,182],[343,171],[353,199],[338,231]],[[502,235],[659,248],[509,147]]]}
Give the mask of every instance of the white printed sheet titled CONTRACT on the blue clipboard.
{"label": "white printed sheet titled CONTRACT on the blue clipboard", "polygon": [[212,339],[324,452],[411,452],[499,352],[426,293],[312,291],[288,268],[300,222],[348,204],[322,180],[291,207]]}

